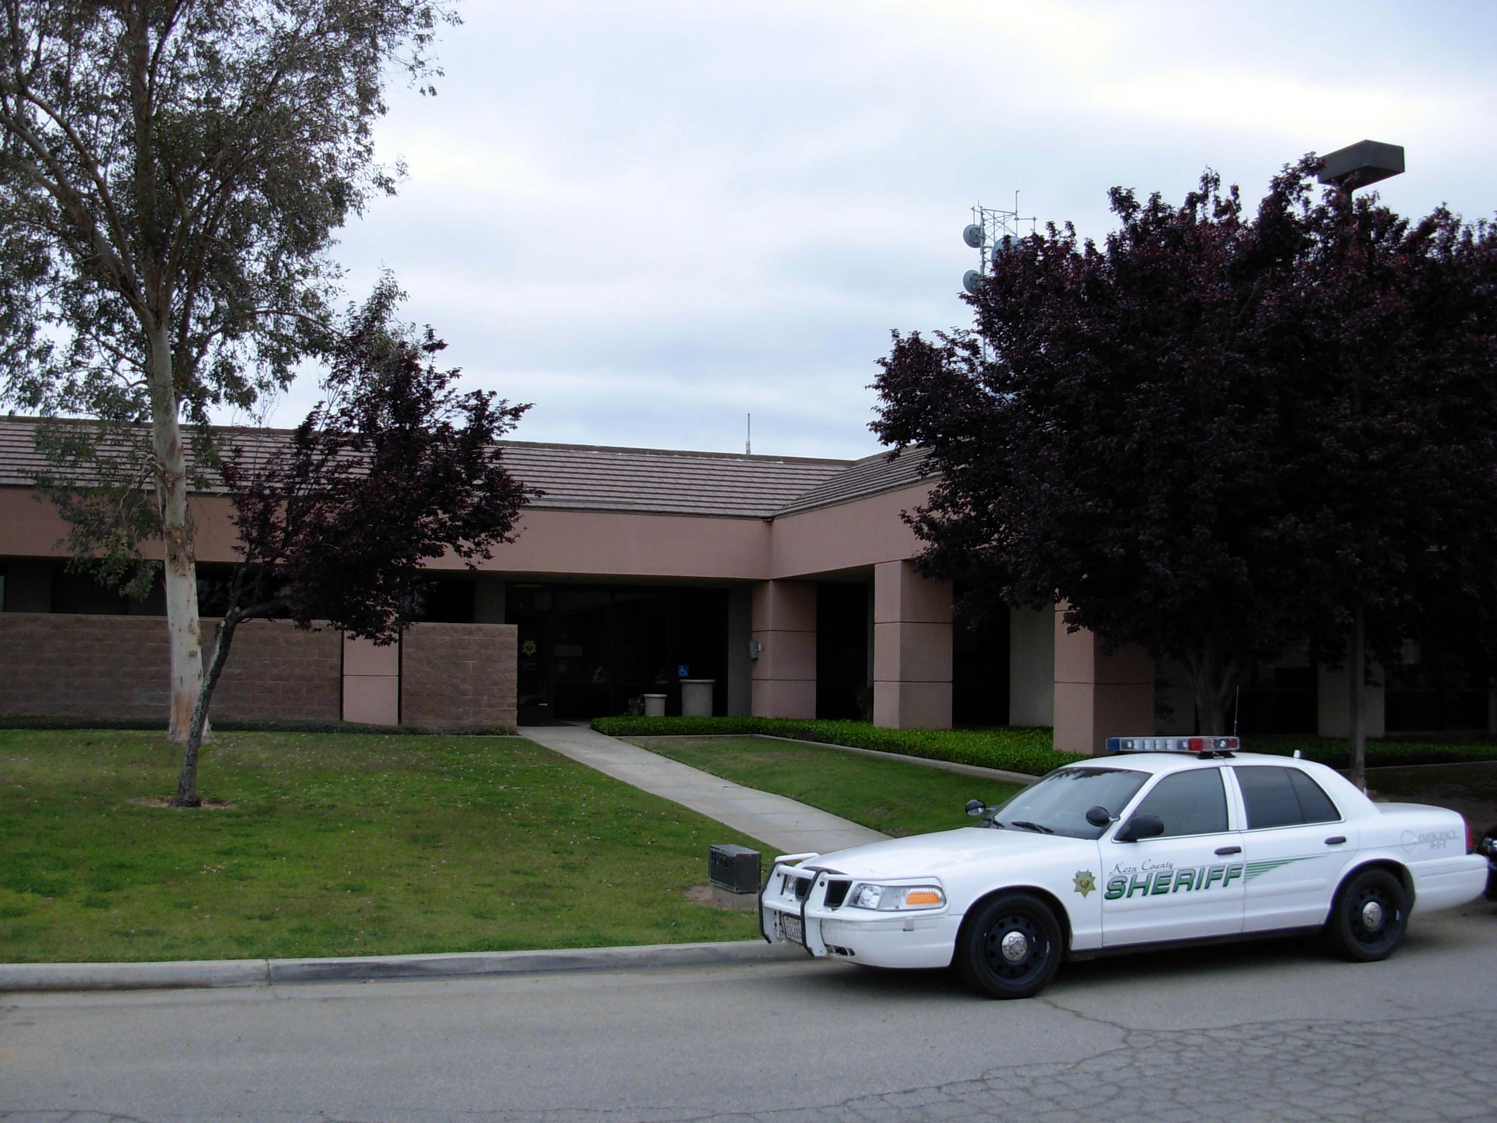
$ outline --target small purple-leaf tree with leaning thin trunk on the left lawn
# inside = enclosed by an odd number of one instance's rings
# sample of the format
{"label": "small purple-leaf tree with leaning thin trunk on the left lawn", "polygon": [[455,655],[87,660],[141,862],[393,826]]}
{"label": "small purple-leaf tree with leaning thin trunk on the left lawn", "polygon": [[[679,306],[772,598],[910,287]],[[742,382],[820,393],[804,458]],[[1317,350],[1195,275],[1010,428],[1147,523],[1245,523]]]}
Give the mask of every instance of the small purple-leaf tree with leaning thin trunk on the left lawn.
{"label": "small purple-leaf tree with leaning thin trunk on the left lawn", "polygon": [[350,311],[325,400],[289,434],[226,434],[219,475],[234,505],[238,562],[193,707],[174,806],[201,804],[198,755],[213,692],[246,620],[290,618],[392,642],[446,556],[470,567],[513,541],[525,487],[496,440],[528,406],[463,392],[431,328],[398,326],[386,279]]}

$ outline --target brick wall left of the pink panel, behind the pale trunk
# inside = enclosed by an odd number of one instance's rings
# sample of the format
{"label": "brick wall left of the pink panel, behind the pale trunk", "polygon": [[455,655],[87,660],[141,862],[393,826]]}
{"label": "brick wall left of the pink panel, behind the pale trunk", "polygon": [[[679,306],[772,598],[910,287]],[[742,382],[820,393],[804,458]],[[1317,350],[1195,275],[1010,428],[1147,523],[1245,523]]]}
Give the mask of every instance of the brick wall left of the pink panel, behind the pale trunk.
{"label": "brick wall left of the pink panel, behind the pale trunk", "polygon": [[[0,714],[165,722],[168,666],[163,617],[0,612]],[[257,620],[234,635],[213,716],[335,722],[341,699],[340,632]]]}

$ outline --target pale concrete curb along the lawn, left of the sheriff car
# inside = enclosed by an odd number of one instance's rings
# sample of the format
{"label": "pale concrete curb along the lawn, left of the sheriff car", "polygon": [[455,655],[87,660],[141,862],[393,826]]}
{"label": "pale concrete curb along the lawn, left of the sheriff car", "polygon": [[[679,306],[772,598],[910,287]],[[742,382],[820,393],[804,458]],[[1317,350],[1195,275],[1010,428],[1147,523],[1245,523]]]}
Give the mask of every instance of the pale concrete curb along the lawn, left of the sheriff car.
{"label": "pale concrete curb along the lawn, left of the sheriff car", "polygon": [[3,963],[0,991],[263,987],[283,982],[451,979],[555,970],[638,970],[804,958],[784,943],[647,943],[636,948],[473,951],[449,955],[353,955],[325,960],[184,960],[171,963]]}

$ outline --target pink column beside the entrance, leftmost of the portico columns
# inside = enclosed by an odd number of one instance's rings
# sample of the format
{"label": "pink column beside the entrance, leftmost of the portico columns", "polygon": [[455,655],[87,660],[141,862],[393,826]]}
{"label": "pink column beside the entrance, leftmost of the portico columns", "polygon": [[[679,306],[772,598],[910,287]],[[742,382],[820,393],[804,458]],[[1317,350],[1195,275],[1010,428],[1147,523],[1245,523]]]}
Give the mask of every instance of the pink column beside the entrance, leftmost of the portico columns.
{"label": "pink column beside the entrance, leftmost of the portico columns", "polygon": [[753,587],[750,705],[754,717],[816,717],[816,582]]}

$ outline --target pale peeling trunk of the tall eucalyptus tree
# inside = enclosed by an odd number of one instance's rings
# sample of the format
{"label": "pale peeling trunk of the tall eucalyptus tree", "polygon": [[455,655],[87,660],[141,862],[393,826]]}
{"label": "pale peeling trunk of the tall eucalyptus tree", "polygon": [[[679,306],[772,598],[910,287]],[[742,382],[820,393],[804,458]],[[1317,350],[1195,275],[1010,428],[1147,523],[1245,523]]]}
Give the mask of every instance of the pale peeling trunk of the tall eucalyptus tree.
{"label": "pale peeling trunk of the tall eucalyptus tree", "polygon": [[172,677],[168,735],[174,741],[186,741],[193,705],[202,692],[202,638],[198,629],[198,563],[187,511],[187,454],[177,416],[171,335],[165,326],[151,332],[151,446],[159,464],[166,563],[166,635]]}

